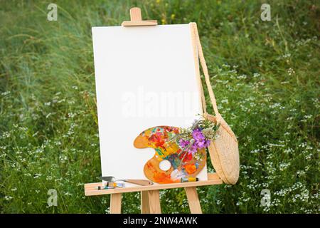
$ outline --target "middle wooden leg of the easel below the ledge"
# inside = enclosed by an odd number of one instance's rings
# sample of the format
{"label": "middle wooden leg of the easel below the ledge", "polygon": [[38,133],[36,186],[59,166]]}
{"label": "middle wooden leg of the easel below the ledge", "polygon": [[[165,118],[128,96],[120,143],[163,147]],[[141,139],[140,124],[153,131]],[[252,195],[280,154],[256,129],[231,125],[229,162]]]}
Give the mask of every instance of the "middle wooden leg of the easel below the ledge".
{"label": "middle wooden leg of the easel below the ledge", "polygon": [[141,192],[142,214],[161,214],[159,190]]}

